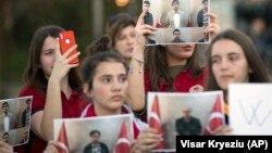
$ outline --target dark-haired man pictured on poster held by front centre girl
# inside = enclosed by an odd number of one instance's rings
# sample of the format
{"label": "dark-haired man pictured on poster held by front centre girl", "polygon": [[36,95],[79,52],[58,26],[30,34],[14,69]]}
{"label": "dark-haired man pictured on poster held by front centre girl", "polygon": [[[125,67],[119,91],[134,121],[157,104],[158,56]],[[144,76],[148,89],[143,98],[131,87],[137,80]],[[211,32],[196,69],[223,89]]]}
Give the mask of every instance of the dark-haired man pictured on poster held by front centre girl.
{"label": "dark-haired man pictured on poster held by front centre girl", "polygon": [[108,146],[100,141],[100,135],[99,130],[89,132],[90,143],[84,148],[84,153],[109,153]]}

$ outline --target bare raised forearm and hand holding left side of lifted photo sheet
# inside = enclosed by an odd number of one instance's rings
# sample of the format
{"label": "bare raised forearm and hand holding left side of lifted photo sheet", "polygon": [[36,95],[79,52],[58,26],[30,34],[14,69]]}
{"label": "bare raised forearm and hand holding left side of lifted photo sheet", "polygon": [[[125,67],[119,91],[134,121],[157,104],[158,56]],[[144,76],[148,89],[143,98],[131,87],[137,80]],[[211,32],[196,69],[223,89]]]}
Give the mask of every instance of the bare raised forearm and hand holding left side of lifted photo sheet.
{"label": "bare raised forearm and hand holding left side of lifted photo sheet", "polygon": [[128,94],[126,102],[134,111],[145,107],[145,86],[144,86],[144,50],[145,35],[153,34],[157,29],[150,25],[144,25],[145,12],[138,18],[135,27],[136,41],[134,44],[131,69],[128,74]]}

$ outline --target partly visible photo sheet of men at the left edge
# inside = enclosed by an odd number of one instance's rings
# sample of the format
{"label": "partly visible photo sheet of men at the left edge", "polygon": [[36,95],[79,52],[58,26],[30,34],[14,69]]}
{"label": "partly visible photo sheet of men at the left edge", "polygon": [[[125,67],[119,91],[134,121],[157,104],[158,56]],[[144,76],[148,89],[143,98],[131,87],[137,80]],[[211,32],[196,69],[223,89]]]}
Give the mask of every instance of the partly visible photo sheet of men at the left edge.
{"label": "partly visible photo sheet of men at the left edge", "polygon": [[33,97],[0,100],[0,139],[12,146],[28,142]]}

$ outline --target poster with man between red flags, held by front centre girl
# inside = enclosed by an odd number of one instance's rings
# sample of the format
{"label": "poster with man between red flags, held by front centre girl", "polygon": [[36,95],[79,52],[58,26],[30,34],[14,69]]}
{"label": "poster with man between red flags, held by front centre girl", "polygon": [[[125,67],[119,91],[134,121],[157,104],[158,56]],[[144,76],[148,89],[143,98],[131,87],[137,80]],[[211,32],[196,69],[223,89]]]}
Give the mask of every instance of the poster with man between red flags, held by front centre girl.
{"label": "poster with man between red flags, held by front centre girl", "polygon": [[101,152],[126,151],[133,138],[131,114],[54,119],[54,140],[69,153],[90,152],[91,143]]}

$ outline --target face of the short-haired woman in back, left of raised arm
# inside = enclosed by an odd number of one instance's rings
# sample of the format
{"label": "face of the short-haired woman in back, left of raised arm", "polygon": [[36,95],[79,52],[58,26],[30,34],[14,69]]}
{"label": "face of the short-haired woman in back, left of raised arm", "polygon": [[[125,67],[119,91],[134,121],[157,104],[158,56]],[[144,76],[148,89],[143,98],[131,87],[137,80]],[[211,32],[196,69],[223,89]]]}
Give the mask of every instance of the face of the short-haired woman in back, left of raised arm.
{"label": "face of the short-haired woman in back, left of raised arm", "polygon": [[125,59],[131,59],[135,41],[134,26],[127,26],[118,34],[115,38],[115,49]]}

